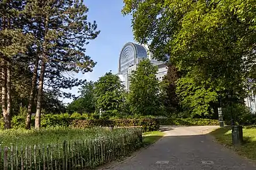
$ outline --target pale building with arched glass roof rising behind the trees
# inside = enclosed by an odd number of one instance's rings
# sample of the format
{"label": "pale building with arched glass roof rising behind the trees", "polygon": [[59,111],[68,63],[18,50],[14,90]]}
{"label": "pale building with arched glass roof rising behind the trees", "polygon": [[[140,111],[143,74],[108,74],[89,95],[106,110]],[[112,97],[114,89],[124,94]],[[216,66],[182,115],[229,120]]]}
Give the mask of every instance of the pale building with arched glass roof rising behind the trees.
{"label": "pale building with arched glass roof rising behind the trees", "polygon": [[156,77],[159,81],[167,74],[168,68],[166,64],[155,60],[153,54],[149,52],[147,45],[128,42],[120,52],[118,63],[118,76],[127,91],[129,91],[130,87],[129,76],[132,71],[137,69],[138,63],[143,59],[149,59],[153,65],[157,65],[158,71]]}

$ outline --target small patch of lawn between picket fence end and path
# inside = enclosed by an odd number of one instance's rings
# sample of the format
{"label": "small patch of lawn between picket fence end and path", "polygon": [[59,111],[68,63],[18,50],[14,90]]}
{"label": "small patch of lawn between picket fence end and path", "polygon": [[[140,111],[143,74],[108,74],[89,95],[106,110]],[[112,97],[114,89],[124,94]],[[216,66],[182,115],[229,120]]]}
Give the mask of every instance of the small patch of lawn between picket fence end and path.
{"label": "small patch of lawn between picket fence end and path", "polygon": [[162,136],[164,136],[164,132],[159,132],[159,131],[145,132],[143,133],[143,144],[144,145],[154,144],[154,142],[161,139]]}

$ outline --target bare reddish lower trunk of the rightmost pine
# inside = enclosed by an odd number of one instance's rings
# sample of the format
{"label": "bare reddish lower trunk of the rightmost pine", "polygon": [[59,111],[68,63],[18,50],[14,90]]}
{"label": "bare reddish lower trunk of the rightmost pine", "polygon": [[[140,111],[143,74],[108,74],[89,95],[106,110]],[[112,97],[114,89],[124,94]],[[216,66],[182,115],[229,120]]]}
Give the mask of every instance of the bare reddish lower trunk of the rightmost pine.
{"label": "bare reddish lower trunk of the rightmost pine", "polygon": [[35,128],[41,126],[42,93],[44,89],[44,72],[46,70],[46,59],[43,57],[39,77],[39,89],[37,94],[37,111],[35,112]]}

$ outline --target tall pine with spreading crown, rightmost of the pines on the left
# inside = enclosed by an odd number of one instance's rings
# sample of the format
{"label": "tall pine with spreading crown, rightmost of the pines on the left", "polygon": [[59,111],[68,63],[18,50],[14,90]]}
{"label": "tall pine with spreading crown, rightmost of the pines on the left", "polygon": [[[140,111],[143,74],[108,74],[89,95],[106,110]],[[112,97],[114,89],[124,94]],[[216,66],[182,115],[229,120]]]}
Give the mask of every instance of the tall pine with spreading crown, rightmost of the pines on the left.
{"label": "tall pine with spreading crown, rightmost of the pines on the left", "polygon": [[[35,116],[35,128],[39,128],[44,91],[59,91],[54,93],[63,96],[66,93],[61,93],[59,89],[72,88],[83,83],[82,80],[66,76],[64,73],[92,71],[95,62],[85,55],[85,45],[88,40],[96,38],[99,31],[96,31],[95,22],[87,21],[88,8],[82,0],[28,1],[25,9],[32,21],[30,26],[34,30],[34,46],[37,47],[34,50],[39,57],[40,73]],[[34,63],[35,75],[37,57]],[[33,94],[32,89],[32,98]],[[30,117],[28,113],[27,128]]]}

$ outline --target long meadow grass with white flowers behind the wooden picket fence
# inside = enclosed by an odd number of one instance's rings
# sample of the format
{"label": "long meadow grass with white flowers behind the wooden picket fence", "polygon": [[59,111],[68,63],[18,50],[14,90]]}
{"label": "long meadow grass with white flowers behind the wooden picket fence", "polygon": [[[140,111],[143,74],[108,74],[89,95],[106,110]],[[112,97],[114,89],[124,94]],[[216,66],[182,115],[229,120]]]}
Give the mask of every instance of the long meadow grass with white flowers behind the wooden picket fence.
{"label": "long meadow grass with white flowers behind the wooden picket fence", "polygon": [[64,140],[97,140],[108,137],[121,137],[127,129],[105,130],[104,128],[47,128],[40,130],[0,130],[0,145],[10,147],[11,145],[25,146],[34,144],[58,144]]}

